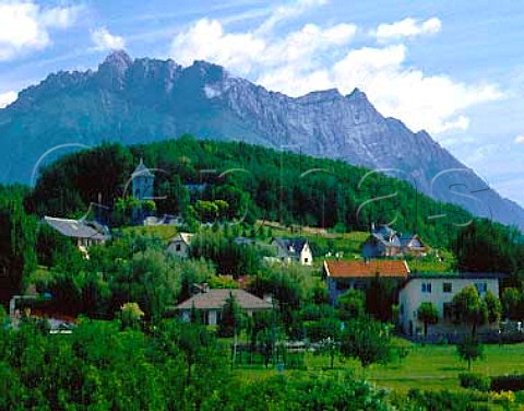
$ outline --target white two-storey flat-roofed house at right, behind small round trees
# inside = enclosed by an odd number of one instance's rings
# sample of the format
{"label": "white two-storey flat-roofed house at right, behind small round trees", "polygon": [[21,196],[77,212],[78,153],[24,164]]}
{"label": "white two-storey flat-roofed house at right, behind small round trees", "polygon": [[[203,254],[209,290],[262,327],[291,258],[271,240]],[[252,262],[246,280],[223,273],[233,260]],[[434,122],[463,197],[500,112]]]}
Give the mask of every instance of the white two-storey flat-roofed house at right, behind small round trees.
{"label": "white two-storey flat-roofed house at right, behind small round trees", "polygon": [[421,334],[424,324],[417,318],[421,303],[432,303],[439,312],[439,322],[428,327],[428,334],[456,331],[452,322],[452,301],[466,285],[475,285],[484,296],[490,291],[499,297],[497,273],[412,274],[398,294],[400,325],[409,336]]}

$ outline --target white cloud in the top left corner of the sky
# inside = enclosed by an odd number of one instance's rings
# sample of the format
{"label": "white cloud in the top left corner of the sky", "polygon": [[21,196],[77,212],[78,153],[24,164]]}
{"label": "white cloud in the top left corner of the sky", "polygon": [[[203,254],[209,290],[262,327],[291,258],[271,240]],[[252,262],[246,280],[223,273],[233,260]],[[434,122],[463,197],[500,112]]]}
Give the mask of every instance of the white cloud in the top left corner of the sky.
{"label": "white cloud in the top left corner of the sky", "polygon": [[80,11],[80,7],[46,9],[32,1],[0,3],[0,60],[49,46],[49,32],[70,27]]}

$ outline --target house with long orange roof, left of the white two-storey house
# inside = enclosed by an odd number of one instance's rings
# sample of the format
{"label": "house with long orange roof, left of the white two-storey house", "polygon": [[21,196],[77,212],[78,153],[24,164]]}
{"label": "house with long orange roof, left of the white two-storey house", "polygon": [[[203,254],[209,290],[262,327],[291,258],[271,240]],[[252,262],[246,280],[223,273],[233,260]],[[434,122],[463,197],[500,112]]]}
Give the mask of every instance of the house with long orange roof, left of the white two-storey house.
{"label": "house with long orange roof, left of the white two-storey house", "polygon": [[386,279],[400,286],[408,277],[409,267],[403,260],[324,261],[323,278],[327,281],[330,300],[336,304],[338,297],[349,289],[366,290],[374,279]]}

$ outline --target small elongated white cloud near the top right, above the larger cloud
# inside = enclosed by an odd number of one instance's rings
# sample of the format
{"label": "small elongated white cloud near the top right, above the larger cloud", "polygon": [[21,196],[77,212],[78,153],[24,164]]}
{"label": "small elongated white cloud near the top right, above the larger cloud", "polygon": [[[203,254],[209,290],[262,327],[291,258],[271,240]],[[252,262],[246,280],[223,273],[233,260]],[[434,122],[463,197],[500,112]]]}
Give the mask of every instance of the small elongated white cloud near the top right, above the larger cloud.
{"label": "small elongated white cloud near the top right, above the larger cloud", "polygon": [[380,24],[372,34],[381,43],[389,40],[397,40],[403,37],[416,37],[420,35],[439,33],[442,23],[437,17],[431,17],[425,22],[416,19],[407,17],[392,24]]}

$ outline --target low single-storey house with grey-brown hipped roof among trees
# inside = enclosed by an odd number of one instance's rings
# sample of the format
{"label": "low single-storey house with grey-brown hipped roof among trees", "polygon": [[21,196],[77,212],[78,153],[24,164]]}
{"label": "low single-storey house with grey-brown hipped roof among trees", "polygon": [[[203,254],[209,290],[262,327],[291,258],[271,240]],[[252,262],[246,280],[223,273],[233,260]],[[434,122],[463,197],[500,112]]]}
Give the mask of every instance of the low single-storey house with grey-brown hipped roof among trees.
{"label": "low single-storey house with grey-brown hipped roof among trees", "polygon": [[191,313],[196,310],[202,314],[205,325],[216,326],[221,321],[222,308],[227,300],[233,296],[240,308],[249,316],[253,313],[270,310],[273,305],[255,295],[240,289],[205,290],[179,304],[176,309],[184,321],[191,320]]}

